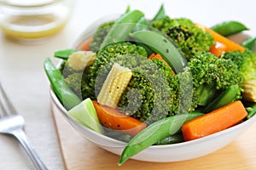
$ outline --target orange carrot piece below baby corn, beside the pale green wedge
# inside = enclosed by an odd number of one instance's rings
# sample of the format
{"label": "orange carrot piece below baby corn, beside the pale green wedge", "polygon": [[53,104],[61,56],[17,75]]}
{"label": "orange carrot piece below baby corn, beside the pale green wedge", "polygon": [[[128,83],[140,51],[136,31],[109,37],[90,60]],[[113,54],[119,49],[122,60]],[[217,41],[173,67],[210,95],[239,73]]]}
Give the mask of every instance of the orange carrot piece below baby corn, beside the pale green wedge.
{"label": "orange carrot piece below baby corn, beside the pale green wedge", "polygon": [[96,100],[93,100],[92,103],[96,109],[99,121],[105,127],[121,130],[131,136],[135,136],[147,127],[146,123],[140,122],[131,116],[125,116],[119,111],[106,105],[100,105]]}

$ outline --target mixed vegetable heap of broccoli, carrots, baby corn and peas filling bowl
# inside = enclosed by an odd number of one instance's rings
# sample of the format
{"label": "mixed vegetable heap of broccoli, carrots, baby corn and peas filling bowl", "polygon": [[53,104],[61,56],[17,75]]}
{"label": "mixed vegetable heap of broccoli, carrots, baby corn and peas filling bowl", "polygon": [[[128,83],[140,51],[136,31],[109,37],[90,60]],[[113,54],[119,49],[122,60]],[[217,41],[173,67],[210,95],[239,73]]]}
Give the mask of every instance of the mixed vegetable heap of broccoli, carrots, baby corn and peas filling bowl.
{"label": "mixed vegetable heap of broccoli, carrots, baby corn and peas filling bowl", "polygon": [[150,145],[199,139],[255,114],[252,41],[225,37],[246,30],[172,18],[163,6],[152,20],[127,9],[78,48],[56,51],[60,68],[48,58],[44,69],[68,115],[127,142],[121,165]]}

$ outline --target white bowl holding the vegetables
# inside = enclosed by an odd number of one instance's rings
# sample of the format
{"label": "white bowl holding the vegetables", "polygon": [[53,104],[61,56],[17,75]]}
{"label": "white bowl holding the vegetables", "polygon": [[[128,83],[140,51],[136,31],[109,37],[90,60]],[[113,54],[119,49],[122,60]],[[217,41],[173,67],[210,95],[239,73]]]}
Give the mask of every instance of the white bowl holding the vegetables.
{"label": "white bowl holding the vegetables", "polygon": [[[96,30],[97,26],[108,20],[116,19],[117,15],[108,16],[101,20],[96,20],[94,24],[88,27],[81,36],[73,43],[73,47],[78,47],[80,42],[90,37],[93,31]],[[85,139],[90,140],[92,143],[98,145],[104,150],[108,150],[116,155],[121,155],[125,148],[125,142],[121,142],[116,139],[111,139],[100,133],[96,133],[87,127],[82,126],[78,122],[75,122],[72,117],[67,115],[67,110],[61,105],[59,99],[55,96],[54,92],[50,89],[50,97],[53,101],[57,111],[60,111],[63,116],[67,118],[69,122]],[[55,110],[53,110],[55,111]],[[230,127],[219,133],[213,133],[207,137],[201,139],[195,139],[178,144],[167,144],[167,145],[152,145],[146,150],[138,153],[131,159],[139,161],[153,161],[153,162],[171,162],[171,161],[185,161],[194,159],[200,156],[206,156],[216,150],[219,150],[230,144],[236,139],[242,132],[250,127],[256,120],[256,115],[249,120],[242,122],[234,127]]]}

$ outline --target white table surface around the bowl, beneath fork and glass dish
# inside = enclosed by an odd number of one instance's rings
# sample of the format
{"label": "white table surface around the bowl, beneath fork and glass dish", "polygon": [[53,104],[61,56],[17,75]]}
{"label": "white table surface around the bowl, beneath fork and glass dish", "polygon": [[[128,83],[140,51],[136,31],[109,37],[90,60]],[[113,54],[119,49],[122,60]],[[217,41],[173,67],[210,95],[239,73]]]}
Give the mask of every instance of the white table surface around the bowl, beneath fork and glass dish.
{"label": "white table surface around the bowl, beneath fork and glass dish", "polygon": [[[24,45],[6,39],[0,32],[0,82],[20,115],[26,119],[26,133],[49,169],[63,169],[61,151],[49,107],[49,83],[43,63],[56,49],[68,48],[94,20],[104,14],[121,14],[128,4],[153,17],[164,3],[166,14],[189,17],[205,26],[224,20],[238,20],[256,35],[254,0],[76,0],[67,26],[41,44]],[[56,61],[54,59],[54,61]],[[34,169],[20,144],[0,135],[0,170]]]}

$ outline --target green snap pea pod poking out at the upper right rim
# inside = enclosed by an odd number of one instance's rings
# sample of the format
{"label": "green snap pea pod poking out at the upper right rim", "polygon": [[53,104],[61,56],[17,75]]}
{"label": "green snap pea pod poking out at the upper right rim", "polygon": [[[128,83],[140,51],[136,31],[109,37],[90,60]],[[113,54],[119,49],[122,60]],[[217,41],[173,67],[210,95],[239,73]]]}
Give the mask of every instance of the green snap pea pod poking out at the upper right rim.
{"label": "green snap pea pod poking out at the upper right rim", "polygon": [[218,32],[220,35],[227,37],[232,34],[236,34],[241,31],[247,31],[248,28],[241,24],[241,22],[230,20],[219,23],[215,26],[212,26],[213,31]]}

